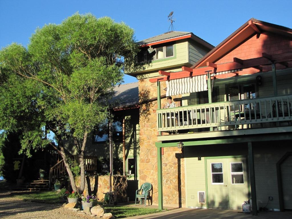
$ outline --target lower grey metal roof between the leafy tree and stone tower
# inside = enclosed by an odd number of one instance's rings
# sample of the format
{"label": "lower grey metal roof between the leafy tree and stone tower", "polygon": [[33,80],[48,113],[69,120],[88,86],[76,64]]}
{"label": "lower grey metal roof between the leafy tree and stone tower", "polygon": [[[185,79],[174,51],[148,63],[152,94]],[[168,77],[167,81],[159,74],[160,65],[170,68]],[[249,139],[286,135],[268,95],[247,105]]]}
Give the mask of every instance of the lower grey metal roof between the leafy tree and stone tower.
{"label": "lower grey metal roof between the leafy tree and stone tower", "polygon": [[114,96],[110,100],[113,107],[127,108],[139,103],[138,82],[121,84],[114,87]]}

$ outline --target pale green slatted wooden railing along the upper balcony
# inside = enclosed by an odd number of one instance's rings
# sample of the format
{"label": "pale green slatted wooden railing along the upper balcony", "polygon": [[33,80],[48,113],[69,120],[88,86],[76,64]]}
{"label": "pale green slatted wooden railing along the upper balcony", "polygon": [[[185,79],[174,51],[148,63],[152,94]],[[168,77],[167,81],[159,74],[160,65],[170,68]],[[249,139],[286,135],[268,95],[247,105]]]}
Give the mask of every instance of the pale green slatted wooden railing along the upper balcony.
{"label": "pale green slatted wooden railing along the upper balcony", "polygon": [[161,132],[219,131],[291,125],[292,95],[157,110]]}

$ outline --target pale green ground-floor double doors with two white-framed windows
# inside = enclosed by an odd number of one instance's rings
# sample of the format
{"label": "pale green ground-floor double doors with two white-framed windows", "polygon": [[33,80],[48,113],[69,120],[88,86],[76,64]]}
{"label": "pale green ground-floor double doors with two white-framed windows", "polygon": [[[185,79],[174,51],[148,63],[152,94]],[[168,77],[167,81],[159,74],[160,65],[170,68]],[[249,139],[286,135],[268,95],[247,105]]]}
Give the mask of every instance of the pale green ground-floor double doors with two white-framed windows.
{"label": "pale green ground-floor double doors with two white-framed windows", "polygon": [[241,208],[248,200],[245,158],[207,159],[209,208]]}

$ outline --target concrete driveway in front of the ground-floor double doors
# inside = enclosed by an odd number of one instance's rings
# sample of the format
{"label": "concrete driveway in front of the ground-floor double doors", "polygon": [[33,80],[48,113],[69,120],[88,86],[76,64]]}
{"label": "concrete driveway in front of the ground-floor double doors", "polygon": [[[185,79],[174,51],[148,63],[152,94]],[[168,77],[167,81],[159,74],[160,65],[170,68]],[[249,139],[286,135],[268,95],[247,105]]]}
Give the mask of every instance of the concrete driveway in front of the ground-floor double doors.
{"label": "concrete driveway in front of the ground-floor double doors", "polygon": [[239,213],[240,210],[229,209],[190,209],[178,208],[166,212],[129,217],[128,219],[291,219],[292,211],[289,212],[259,212],[258,216]]}

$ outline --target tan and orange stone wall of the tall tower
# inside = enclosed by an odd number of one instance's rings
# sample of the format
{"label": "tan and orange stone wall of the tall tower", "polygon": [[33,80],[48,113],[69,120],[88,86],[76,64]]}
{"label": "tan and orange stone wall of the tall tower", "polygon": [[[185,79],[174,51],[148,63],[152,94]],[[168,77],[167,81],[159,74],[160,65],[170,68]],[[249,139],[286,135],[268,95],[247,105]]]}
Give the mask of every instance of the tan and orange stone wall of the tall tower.
{"label": "tan and orange stone wall of the tall tower", "polygon": [[[161,82],[161,95],[165,94],[165,82]],[[140,101],[157,97],[157,84],[149,79],[139,80]],[[172,96],[180,98],[180,96]],[[161,100],[161,106],[166,98]],[[180,105],[179,102],[176,102]],[[153,185],[153,203],[158,203],[157,188],[157,101],[140,106],[140,169],[139,185],[149,182]],[[164,148],[162,156],[163,203],[168,206],[185,206],[185,168],[181,149]]]}

